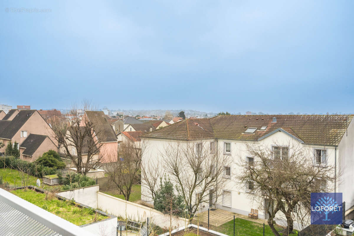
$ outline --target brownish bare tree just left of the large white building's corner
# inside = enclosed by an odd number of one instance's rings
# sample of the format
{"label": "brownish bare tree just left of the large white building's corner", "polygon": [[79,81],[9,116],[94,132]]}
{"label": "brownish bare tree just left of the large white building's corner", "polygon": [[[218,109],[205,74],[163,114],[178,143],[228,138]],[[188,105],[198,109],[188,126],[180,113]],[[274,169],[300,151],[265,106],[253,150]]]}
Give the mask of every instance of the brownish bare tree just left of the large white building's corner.
{"label": "brownish bare tree just left of the large white building's corner", "polygon": [[106,173],[126,201],[129,201],[133,184],[138,183],[145,141],[132,142],[126,140],[119,144],[118,159],[107,163]]}

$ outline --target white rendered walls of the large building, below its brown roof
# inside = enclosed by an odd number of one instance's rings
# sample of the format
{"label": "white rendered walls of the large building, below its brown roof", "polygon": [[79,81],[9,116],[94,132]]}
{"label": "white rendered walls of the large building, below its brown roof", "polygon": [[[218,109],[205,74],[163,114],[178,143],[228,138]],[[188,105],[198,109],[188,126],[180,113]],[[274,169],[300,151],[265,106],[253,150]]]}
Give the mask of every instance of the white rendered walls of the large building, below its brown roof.
{"label": "white rendered walls of the large building, below its brown roof", "polygon": [[[258,132],[258,131],[256,131]],[[331,166],[336,166],[336,173],[333,171],[333,175],[338,176],[339,171],[343,169],[342,167],[347,166],[344,175],[347,178],[347,183],[344,181],[341,183],[338,178],[336,183],[327,183],[327,188],[333,192],[343,192],[343,201],[354,202],[354,185],[351,184],[354,172],[351,170],[351,167],[354,164],[353,151],[354,151],[354,125],[350,124],[348,128],[348,136],[344,134],[342,142],[339,146],[332,145],[309,145],[304,144],[301,140],[292,136],[284,130],[275,132],[268,137],[265,137],[259,141],[247,141],[249,143],[258,143],[259,145],[264,145],[269,148],[272,146],[289,146],[289,143],[292,146],[298,145],[299,147],[305,148],[308,151],[309,155],[313,155],[315,160],[314,151],[315,149],[326,150],[326,164]],[[252,135],[252,134],[250,134]],[[166,171],[162,168],[161,163],[163,163],[161,152],[164,151],[164,147],[167,145],[177,145],[177,141],[167,140],[167,139],[153,139],[147,138],[148,145],[147,151],[143,155],[142,165],[153,165],[156,168],[156,171],[160,173],[165,173]],[[262,199],[255,201],[255,196],[247,191],[246,186],[239,185],[236,183],[236,174],[241,173],[243,169],[237,164],[240,158],[246,160],[247,157],[252,157],[246,152],[245,141],[241,140],[227,140],[227,139],[211,139],[203,140],[206,144],[208,142],[216,142],[216,147],[221,151],[222,155],[229,156],[232,164],[230,165],[230,176],[227,176],[228,180],[226,185],[222,190],[225,191],[224,196],[218,199],[216,203],[217,208],[224,209],[227,211],[239,213],[242,215],[248,215],[251,211],[251,208],[258,209],[259,218],[265,218],[264,207],[259,205],[259,202],[264,202]],[[230,147],[230,152],[225,152],[225,143],[228,143],[228,148]],[[291,152],[291,150],[289,150]],[[335,161],[336,160],[336,161]],[[339,185],[339,186],[338,186]],[[335,189],[336,186],[336,189]],[[156,186],[158,188],[158,186]],[[142,181],[142,200],[147,203],[152,203],[152,199],[149,196],[149,190]],[[262,198],[262,196],[259,196]],[[204,208],[208,209],[208,206]],[[277,215],[279,219],[282,218],[281,215]],[[277,224],[280,221],[277,221]],[[298,226],[295,222],[295,228],[299,229],[301,226]]]}

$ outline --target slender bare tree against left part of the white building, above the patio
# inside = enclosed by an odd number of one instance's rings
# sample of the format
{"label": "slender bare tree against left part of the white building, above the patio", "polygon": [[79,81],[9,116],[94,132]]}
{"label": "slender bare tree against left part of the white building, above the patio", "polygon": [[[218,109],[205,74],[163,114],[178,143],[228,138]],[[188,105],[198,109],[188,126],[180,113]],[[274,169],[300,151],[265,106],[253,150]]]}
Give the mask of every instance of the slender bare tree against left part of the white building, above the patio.
{"label": "slender bare tree against left part of the white building, above the patio", "polygon": [[[161,152],[164,169],[181,189],[190,222],[201,203],[215,204],[227,181],[223,177],[228,156],[210,148],[202,139],[194,142],[178,142],[165,146]],[[212,195],[212,202],[210,202]]]}

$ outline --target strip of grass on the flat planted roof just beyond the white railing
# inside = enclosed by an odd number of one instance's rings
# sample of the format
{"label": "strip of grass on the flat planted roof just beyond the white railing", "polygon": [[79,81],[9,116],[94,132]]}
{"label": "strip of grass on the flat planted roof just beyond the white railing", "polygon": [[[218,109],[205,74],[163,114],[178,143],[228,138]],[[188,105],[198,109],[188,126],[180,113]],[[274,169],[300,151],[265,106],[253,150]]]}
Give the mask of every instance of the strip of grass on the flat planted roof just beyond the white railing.
{"label": "strip of grass on the flat planted roof just beyond the white railing", "polygon": [[[77,207],[71,204],[70,201],[61,201],[53,195],[49,195],[45,199],[45,194],[32,189],[18,189],[11,191],[11,193],[75,225],[84,225],[93,222],[94,211]],[[107,218],[100,214],[97,216],[98,221]]]}

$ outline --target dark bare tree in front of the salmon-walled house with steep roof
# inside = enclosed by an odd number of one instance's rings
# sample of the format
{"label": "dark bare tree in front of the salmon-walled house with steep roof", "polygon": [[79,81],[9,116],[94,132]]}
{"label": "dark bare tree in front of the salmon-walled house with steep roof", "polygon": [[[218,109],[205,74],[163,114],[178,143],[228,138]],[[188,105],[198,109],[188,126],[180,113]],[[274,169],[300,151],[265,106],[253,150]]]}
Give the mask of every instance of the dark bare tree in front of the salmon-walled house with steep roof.
{"label": "dark bare tree in front of the salmon-walled house with steep roof", "polygon": [[69,122],[61,119],[52,119],[51,126],[54,131],[54,139],[57,140],[60,149],[72,160],[76,171],[86,175],[90,169],[96,169],[102,162],[102,145],[105,142],[105,134],[97,127],[98,119],[89,120],[82,116],[80,111],[89,111],[93,108],[90,102],[84,100],[81,109],[73,105],[68,112]]}

